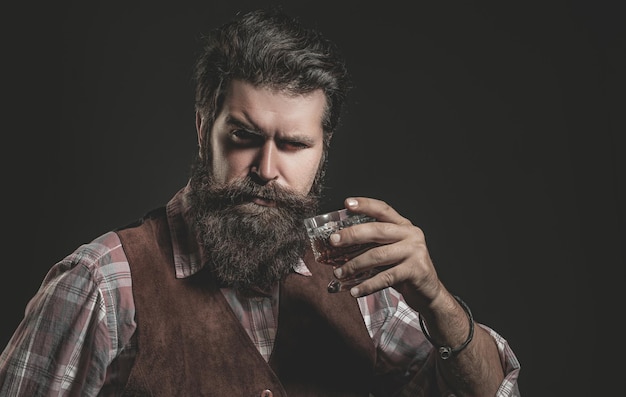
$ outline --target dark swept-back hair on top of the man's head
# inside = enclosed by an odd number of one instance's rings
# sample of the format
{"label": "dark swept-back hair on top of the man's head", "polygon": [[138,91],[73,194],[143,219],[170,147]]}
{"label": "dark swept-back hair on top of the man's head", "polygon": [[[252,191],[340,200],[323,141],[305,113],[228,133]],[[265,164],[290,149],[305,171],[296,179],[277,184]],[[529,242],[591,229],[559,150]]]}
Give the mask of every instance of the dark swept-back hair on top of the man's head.
{"label": "dark swept-back hair on top of the man's head", "polygon": [[278,8],[244,14],[210,31],[204,43],[195,65],[195,107],[208,130],[233,79],[294,94],[322,89],[328,148],[350,88],[345,60],[334,43]]}

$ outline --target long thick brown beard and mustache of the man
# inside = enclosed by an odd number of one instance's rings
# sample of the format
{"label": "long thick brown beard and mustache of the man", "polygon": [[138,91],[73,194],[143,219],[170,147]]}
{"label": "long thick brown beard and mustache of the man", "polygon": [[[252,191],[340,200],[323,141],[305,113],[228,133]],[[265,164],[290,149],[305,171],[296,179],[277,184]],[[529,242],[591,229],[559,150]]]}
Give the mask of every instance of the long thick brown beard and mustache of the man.
{"label": "long thick brown beard and mustache of the man", "polygon": [[[269,291],[304,255],[309,242],[303,219],[317,211],[315,193],[301,195],[251,177],[218,184],[200,159],[192,168],[190,188],[190,213],[203,260],[221,286]],[[276,206],[254,204],[253,197],[273,200]]]}

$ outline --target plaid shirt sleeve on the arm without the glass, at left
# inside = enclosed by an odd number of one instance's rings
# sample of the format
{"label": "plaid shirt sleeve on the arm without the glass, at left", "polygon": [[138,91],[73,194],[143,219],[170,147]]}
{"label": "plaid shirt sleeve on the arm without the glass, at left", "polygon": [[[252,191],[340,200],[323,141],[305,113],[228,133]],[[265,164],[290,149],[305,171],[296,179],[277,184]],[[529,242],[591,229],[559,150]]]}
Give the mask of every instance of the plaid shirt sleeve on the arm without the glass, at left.
{"label": "plaid shirt sleeve on the arm without the glass, at left", "polygon": [[116,240],[103,235],[50,269],[0,355],[0,395],[98,394],[133,330],[130,272]]}

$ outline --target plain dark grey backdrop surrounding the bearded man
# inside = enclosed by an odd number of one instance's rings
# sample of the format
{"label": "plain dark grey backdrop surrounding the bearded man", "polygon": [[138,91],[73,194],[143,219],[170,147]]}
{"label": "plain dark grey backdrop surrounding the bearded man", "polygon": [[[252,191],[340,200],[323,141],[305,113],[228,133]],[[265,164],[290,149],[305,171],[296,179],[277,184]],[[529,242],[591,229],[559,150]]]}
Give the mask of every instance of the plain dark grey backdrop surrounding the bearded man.
{"label": "plain dark grey backdrop surrounding the bearded man", "polygon": [[[324,205],[373,196],[419,225],[523,395],[623,393],[625,14],[509,3],[286,5],[356,84]],[[256,4],[3,6],[0,344],[50,266],[186,183],[199,35]]]}

